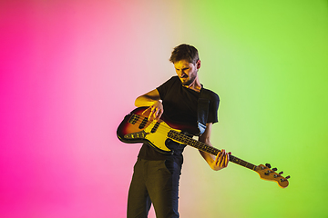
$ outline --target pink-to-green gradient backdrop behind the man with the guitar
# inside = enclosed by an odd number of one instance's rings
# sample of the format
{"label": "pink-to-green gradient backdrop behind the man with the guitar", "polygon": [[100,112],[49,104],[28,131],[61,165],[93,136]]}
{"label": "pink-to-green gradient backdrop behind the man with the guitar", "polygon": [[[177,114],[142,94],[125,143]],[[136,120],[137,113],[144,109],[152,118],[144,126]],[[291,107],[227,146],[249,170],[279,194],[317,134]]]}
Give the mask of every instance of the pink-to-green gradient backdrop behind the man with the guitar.
{"label": "pink-to-green gradient backdrop behind the man with the guitar", "polygon": [[214,172],[188,147],[181,217],[328,217],[323,0],[1,1],[0,217],[125,217],[140,145],[116,129],[181,43],[220,95],[212,144],[292,176]]}

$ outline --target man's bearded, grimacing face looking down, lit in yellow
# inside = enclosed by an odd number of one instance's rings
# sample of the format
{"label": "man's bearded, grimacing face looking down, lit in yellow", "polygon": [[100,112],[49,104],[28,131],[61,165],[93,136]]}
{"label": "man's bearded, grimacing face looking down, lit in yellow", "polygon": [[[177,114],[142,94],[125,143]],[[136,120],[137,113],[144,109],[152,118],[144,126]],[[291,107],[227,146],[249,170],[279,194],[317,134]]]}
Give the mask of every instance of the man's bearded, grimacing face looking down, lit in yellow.
{"label": "man's bearded, grimacing face looking down, lit in yellow", "polygon": [[174,68],[183,85],[192,84],[196,77],[198,69],[200,69],[200,60],[196,64],[192,64],[187,60],[181,60],[174,63]]}

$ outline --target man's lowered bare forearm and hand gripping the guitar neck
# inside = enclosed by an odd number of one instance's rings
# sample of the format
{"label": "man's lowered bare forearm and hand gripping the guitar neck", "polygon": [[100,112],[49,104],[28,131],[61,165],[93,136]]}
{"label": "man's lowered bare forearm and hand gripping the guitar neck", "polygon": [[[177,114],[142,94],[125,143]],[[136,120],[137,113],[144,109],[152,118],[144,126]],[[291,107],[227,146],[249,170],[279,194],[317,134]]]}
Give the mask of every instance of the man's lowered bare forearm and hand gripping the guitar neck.
{"label": "man's lowered bare forearm and hand gripping the guitar neck", "polygon": [[[201,134],[199,138],[200,142],[208,144],[210,146],[212,146],[210,144],[211,127],[212,123],[206,124],[205,132]],[[212,154],[208,154],[202,151],[200,151],[200,154],[205,159],[205,161],[209,163],[210,168],[215,171],[221,170],[228,166],[229,154],[227,154],[224,149],[222,149],[216,157]]]}

